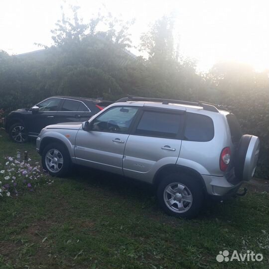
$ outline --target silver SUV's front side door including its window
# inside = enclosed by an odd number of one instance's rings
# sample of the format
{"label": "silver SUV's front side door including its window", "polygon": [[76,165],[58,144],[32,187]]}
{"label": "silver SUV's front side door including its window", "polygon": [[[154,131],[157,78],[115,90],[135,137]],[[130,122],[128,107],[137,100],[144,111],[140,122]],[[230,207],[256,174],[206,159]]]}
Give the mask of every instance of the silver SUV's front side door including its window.
{"label": "silver SUV's front side door including its window", "polygon": [[92,130],[76,136],[76,163],[123,174],[123,155],[138,107],[117,106],[91,122]]}

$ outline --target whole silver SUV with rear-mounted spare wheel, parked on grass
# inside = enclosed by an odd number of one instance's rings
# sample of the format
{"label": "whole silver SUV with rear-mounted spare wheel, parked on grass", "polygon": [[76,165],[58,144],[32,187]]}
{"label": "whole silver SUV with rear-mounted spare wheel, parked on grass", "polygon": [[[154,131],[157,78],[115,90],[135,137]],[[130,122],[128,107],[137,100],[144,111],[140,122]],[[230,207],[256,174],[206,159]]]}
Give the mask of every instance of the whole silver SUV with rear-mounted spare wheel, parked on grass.
{"label": "whole silver SUV with rear-mounted spare wheel, parked on grass", "polygon": [[236,194],[253,176],[260,148],[236,117],[208,103],[127,97],[84,123],[44,128],[36,140],[42,164],[64,176],[72,164],[157,187],[163,210],[195,216],[209,194]]}

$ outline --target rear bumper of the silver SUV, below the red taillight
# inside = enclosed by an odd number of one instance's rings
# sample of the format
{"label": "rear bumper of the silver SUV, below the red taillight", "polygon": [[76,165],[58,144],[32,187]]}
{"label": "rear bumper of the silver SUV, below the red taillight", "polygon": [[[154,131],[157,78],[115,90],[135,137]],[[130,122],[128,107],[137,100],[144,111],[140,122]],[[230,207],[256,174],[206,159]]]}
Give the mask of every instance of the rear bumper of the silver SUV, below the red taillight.
{"label": "rear bumper of the silver SUV, below the red taillight", "polygon": [[231,196],[237,192],[242,181],[232,184],[224,176],[202,175],[207,193],[213,196]]}

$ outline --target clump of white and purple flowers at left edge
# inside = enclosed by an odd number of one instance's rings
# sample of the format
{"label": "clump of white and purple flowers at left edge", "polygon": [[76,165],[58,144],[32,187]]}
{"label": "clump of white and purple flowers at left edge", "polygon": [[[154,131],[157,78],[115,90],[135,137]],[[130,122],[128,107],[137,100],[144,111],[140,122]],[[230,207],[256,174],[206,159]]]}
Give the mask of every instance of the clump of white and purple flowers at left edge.
{"label": "clump of white and purple flowers at left edge", "polygon": [[27,190],[33,191],[40,184],[53,183],[38,162],[34,164],[6,157],[5,163],[0,164],[0,197],[18,196]]}

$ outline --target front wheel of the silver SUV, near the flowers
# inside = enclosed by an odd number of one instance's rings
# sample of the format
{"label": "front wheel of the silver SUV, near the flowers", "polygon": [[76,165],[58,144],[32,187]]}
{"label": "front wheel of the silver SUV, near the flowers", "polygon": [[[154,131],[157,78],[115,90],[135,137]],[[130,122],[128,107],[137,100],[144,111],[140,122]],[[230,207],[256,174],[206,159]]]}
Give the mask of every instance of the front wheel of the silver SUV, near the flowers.
{"label": "front wheel of the silver SUV, near the flowers", "polygon": [[[54,154],[57,153],[56,150],[59,152],[58,154]],[[52,156],[55,155],[54,157],[56,157],[56,159],[59,160],[59,162],[56,161],[57,163],[53,164],[52,163],[53,159],[51,159],[50,161],[50,158],[47,156],[47,154],[49,153],[51,153]],[[61,159],[62,164],[60,163]],[[50,167],[49,163],[52,164]],[[66,176],[72,169],[72,161],[70,159],[70,155],[67,148],[63,144],[55,142],[45,146],[45,148],[42,151],[42,166],[44,170],[48,171],[49,174],[52,176],[59,176],[59,177]]]}

